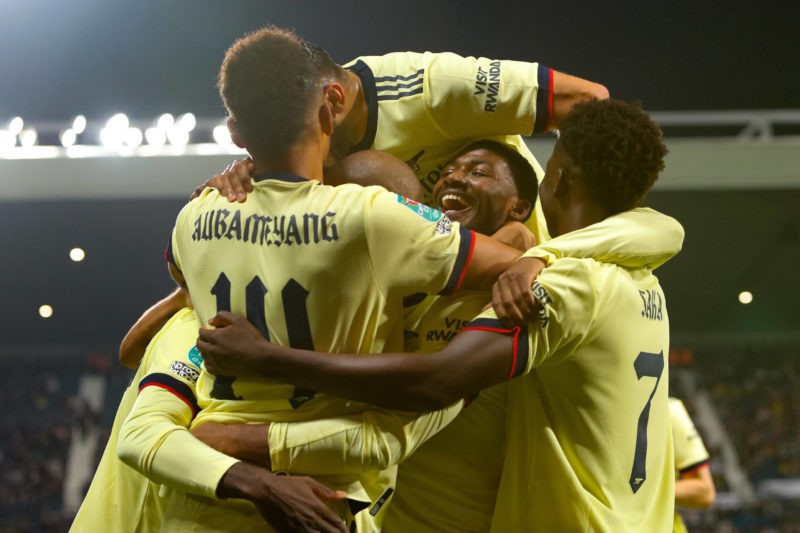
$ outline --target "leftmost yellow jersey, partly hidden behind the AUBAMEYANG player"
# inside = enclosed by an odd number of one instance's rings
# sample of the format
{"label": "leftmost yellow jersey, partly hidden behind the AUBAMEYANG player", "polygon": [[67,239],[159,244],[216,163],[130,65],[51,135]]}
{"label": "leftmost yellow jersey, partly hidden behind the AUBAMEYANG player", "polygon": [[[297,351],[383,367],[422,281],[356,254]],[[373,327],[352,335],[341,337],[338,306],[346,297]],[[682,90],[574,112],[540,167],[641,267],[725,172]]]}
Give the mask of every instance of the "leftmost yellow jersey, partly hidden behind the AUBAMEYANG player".
{"label": "leftmost yellow jersey, partly hidden behind the AUBAMEYANG player", "polygon": [[140,387],[168,389],[197,409],[194,386],[202,363],[194,347],[197,328],[192,310],[183,309],[148,345],[122,396],[108,444],[70,531],[160,531],[165,499],[159,496],[159,485],[117,458],[117,440]]}

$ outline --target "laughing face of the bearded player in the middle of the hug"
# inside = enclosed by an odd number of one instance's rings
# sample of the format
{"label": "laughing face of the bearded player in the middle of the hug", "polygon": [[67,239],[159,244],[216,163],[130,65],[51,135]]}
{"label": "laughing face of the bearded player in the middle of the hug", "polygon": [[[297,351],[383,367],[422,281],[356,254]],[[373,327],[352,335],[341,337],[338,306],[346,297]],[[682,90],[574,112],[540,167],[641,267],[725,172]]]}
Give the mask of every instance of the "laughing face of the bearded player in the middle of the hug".
{"label": "laughing face of the bearded player in the middle of the hug", "polygon": [[438,210],[485,235],[491,235],[506,222],[517,195],[506,160],[485,148],[458,156],[442,169],[433,187],[433,202]]}

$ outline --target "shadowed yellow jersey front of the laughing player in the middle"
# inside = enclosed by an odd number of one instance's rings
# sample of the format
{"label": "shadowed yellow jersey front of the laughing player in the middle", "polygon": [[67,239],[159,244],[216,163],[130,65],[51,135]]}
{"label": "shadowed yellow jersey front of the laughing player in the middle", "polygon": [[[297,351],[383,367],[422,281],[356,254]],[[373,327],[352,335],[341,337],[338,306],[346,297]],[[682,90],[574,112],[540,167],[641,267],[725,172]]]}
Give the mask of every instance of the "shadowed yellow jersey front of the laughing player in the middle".
{"label": "shadowed yellow jersey front of the laughing player in the middle", "polygon": [[[414,327],[419,352],[444,347],[489,303],[486,292],[430,297]],[[450,425],[403,461],[384,531],[488,531],[505,453],[506,386],[467,399]]]}

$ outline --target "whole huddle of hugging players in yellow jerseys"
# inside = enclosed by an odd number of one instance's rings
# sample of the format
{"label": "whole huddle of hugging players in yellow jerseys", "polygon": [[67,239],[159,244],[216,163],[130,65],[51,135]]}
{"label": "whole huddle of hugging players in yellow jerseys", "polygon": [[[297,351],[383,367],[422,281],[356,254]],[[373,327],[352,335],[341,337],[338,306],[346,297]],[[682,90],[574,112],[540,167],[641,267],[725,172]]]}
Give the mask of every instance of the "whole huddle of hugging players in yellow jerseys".
{"label": "whole huddle of hugging players in yellow jerseys", "polygon": [[72,531],[673,529],[708,456],[675,459],[653,271],[683,229],[639,207],[667,149],[638,104],[275,27],[219,89],[250,159],[177,216]]}

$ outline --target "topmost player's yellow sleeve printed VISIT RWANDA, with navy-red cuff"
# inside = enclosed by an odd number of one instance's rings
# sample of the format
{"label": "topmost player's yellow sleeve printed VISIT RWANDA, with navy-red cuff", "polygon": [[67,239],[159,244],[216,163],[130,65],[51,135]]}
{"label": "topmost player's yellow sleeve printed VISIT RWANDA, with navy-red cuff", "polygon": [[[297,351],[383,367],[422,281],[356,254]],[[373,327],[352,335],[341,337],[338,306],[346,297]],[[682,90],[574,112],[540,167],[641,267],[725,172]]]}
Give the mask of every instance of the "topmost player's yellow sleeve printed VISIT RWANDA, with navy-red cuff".
{"label": "topmost player's yellow sleeve printed VISIT RWANDA, with navy-red cuff", "polygon": [[425,104],[450,138],[531,135],[552,110],[552,71],[538,63],[432,54]]}

